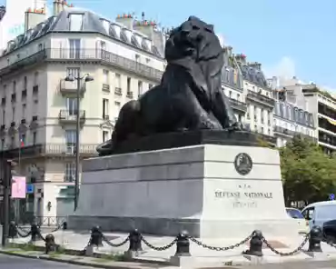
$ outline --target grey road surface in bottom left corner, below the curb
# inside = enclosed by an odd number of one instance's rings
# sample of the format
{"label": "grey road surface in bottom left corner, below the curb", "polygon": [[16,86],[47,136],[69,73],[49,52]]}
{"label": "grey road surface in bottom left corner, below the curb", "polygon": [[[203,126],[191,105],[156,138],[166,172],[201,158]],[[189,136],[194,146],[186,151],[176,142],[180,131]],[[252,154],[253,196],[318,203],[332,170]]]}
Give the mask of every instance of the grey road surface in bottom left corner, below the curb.
{"label": "grey road surface in bottom left corner, below the curb", "polygon": [[60,264],[44,260],[25,259],[0,254],[1,269],[93,269],[92,267]]}

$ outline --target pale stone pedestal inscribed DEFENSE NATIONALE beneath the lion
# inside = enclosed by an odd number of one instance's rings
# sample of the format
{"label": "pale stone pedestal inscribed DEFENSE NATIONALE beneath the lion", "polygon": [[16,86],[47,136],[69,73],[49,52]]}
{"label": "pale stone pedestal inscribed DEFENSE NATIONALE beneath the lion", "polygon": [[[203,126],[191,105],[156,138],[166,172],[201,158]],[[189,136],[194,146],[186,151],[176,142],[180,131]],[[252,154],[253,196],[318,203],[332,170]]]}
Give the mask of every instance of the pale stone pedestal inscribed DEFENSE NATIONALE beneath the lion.
{"label": "pale stone pedestal inscribed DEFENSE NATIONALE beneath the lion", "polygon": [[[252,160],[245,175],[235,163],[242,153]],[[285,211],[277,150],[201,144],[92,158],[83,170],[71,229],[240,239],[255,229],[298,233]]]}

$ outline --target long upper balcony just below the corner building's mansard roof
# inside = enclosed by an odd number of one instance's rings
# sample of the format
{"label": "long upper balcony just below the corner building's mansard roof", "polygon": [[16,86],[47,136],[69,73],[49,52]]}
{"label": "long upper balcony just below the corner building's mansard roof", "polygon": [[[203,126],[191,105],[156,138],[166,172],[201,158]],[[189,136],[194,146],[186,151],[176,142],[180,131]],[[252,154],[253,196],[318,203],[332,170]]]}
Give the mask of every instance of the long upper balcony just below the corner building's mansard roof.
{"label": "long upper balcony just below the corner building's mansard roof", "polygon": [[94,62],[97,64],[110,65],[157,83],[161,81],[163,75],[162,71],[149,65],[143,65],[135,60],[125,58],[121,55],[115,55],[112,52],[102,49],[48,48],[31,55],[26,55],[25,57],[22,55],[21,59],[14,59],[14,57],[11,57],[11,59],[12,61],[8,65],[0,68],[0,76],[10,75],[23,67],[40,64],[45,61],[74,64]]}

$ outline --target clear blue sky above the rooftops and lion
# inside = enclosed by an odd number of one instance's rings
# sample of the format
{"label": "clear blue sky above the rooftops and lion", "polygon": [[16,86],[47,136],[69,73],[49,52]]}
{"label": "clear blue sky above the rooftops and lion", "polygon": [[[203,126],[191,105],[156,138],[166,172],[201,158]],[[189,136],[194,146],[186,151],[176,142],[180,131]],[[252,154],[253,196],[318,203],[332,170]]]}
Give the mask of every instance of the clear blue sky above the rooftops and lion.
{"label": "clear blue sky above the rooftops and lion", "polygon": [[[51,1],[51,0],[49,0]],[[69,0],[114,19],[141,15],[179,25],[197,15],[215,25],[233,51],[262,63],[267,75],[297,75],[336,89],[335,0]]]}

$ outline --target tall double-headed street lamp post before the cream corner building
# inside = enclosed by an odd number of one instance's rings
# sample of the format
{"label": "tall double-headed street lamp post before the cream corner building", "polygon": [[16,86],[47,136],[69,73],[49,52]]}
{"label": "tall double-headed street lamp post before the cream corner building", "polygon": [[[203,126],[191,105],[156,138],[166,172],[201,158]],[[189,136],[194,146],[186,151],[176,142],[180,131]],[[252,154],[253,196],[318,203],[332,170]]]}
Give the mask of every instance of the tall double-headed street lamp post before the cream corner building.
{"label": "tall double-headed street lamp post before the cream corner building", "polygon": [[77,91],[76,91],[76,105],[77,105],[77,115],[76,115],[76,148],[75,148],[75,174],[74,174],[74,211],[77,209],[78,205],[78,194],[79,194],[79,132],[81,129],[81,116],[80,116],[80,91],[81,91],[81,82],[84,80],[84,83],[94,80],[89,74],[83,76],[68,75],[65,77],[65,81],[74,82],[77,81]]}

